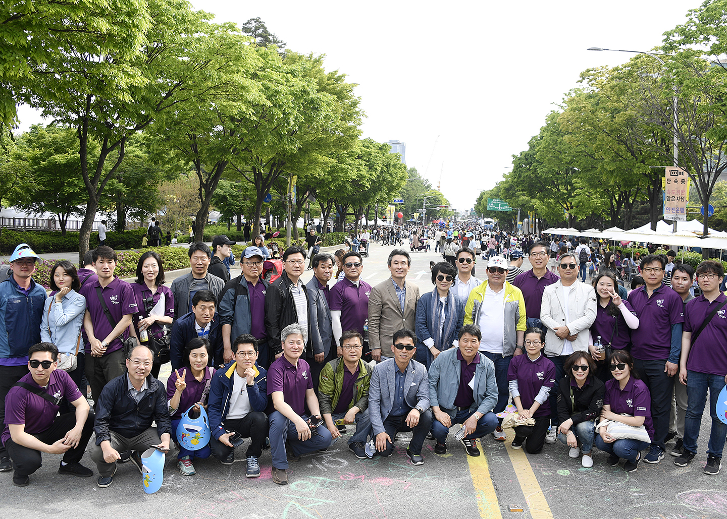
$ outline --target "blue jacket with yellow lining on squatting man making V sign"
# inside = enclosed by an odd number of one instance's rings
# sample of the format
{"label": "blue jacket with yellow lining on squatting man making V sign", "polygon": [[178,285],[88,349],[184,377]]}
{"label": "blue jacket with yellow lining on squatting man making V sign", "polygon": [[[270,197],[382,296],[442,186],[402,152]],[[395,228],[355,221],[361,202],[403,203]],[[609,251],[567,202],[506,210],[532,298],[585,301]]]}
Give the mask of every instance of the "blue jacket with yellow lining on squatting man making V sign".
{"label": "blue jacket with yellow lining on squatting man making V sign", "polygon": [[[230,410],[230,393],[235,385],[233,373],[236,368],[237,361],[230,361],[222,369],[217,369],[209,385],[209,428],[212,429],[212,436],[217,439],[225,434],[225,417]],[[252,388],[247,388],[247,396],[253,411],[265,411],[268,406],[268,372],[257,363],[255,369],[255,382]]]}

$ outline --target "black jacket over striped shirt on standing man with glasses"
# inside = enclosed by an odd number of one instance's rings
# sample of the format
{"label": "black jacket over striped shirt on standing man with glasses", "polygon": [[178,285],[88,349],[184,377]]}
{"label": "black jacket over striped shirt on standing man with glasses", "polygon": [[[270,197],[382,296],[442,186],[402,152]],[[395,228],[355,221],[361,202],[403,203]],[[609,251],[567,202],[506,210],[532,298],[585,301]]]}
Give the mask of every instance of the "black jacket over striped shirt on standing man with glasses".
{"label": "black jacket over striped shirt on standing man with glasses", "polygon": [[[280,332],[288,324],[298,322],[295,301],[293,301],[293,296],[290,293],[292,284],[288,274],[284,271],[281,277],[278,277],[265,293],[265,330],[268,332],[268,348],[276,355],[283,351]],[[306,300],[308,300],[308,287],[303,284],[302,289]],[[308,308],[308,335],[304,339],[305,350],[308,352],[313,350],[308,340],[310,338],[310,306],[306,303],[305,307]]]}

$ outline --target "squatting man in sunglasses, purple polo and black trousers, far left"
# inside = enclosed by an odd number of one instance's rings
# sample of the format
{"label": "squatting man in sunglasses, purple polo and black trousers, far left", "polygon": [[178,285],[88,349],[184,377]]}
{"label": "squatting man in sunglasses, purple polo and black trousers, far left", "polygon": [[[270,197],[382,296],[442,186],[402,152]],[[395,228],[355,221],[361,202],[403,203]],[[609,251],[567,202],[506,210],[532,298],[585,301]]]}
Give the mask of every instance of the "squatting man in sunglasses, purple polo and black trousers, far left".
{"label": "squatting man in sunglasses, purple polo and black trousers, far left", "polygon": [[[28,350],[28,358],[26,366],[30,372],[8,391],[5,400],[1,440],[15,469],[12,483],[28,485],[28,475],[41,467],[41,452],[63,454],[59,474],[90,478],[92,470],[80,463],[93,433],[94,415],[88,402],[68,373],[63,369],[56,371],[55,344],[34,344]],[[59,416],[63,400],[75,409]]]}

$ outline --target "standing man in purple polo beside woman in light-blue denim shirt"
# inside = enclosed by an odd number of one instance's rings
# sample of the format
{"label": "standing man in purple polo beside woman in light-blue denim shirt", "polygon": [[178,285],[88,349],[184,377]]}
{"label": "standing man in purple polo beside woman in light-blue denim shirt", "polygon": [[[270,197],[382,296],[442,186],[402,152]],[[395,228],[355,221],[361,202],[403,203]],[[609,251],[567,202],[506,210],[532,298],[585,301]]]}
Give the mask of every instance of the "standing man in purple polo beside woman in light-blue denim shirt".
{"label": "standing man in purple polo beside woman in light-blue denim shirt", "polygon": [[89,338],[86,377],[94,401],[109,380],[124,375],[124,340],[137,311],[134,291],[129,283],[113,275],[116,253],[102,245],[93,251],[93,266],[98,277],[90,277],[79,294],[86,298],[84,330]]}

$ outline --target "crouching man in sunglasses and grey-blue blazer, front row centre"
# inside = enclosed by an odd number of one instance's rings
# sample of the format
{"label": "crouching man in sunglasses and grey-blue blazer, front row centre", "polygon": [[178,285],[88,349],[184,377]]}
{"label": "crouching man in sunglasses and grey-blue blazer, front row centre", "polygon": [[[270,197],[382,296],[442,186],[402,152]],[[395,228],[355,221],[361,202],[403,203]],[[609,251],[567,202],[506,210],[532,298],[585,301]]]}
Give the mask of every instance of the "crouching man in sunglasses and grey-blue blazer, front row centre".
{"label": "crouching man in sunglasses and grey-blue blazer, front row centre", "polygon": [[[406,456],[412,465],[422,465],[422,445],[432,427],[429,409],[429,378],[423,364],[411,357],[416,351],[417,337],[404,328],[394,332],[395,356],[377,364],[369,384],[369,420],[376,450],[391,456],[396,433],[414,431]],[[363,420],[362,420],[363,421]],[[361,423],[359,422],[359,425]]]}

